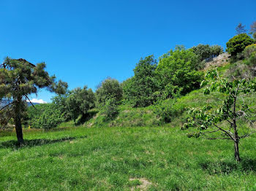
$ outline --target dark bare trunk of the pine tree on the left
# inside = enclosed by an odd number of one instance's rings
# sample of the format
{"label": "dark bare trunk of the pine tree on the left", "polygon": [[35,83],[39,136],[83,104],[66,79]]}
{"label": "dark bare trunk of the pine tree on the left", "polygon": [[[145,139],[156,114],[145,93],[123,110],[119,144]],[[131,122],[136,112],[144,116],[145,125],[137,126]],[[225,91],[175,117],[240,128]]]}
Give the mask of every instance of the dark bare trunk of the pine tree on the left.
{"label": "dark bare trunk of the pine tree on the left", "polygon": [[20,112],[21,112],[21,101],[22,97],[20,96],[15,103],[15,130],[16,130],[16,136],[18,139],[18,144],[23,144],[23,133],[22,133],[22,126],[21,126],[21,117],[20,117]]}

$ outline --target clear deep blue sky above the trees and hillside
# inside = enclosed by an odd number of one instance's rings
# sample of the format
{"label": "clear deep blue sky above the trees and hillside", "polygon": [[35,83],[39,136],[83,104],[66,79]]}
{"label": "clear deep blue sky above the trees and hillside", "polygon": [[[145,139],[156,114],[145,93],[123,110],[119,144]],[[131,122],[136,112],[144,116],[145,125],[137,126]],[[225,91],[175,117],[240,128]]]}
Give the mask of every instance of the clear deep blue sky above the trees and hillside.
{"label": "clear deep blue sky above the trees and hillside", "polygon": [[[69,89],[123,81],[141,57],[225,43],[256,20],[255,0],[0,0],[0,58],[45,61]],[[38,99],[50,101],[42,90]],[[34,95],[32,98],[36,98]]]}

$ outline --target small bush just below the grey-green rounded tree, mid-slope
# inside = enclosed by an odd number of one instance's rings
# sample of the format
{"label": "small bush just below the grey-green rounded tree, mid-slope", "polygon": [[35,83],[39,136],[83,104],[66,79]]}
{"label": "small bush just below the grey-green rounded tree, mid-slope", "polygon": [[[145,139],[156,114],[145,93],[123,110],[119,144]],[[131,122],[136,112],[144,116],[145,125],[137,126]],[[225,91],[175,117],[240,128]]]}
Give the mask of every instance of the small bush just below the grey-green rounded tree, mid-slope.
{"label": "small bush just below the grey-green rounded tree, mid-slope", "polygon": [[105,103],[101,106],[101,112],[106,115],[107,120],[113,120],[116,114],[118,114],[116,98],[107,98]]}

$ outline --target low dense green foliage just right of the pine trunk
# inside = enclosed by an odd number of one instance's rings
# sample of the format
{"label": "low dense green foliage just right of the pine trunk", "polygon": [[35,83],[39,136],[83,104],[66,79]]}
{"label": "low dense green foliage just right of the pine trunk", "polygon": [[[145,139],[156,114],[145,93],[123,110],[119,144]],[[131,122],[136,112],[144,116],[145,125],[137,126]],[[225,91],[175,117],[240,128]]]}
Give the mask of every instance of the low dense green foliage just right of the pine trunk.
{"label": "low dense green foliage just right of the pine trunk", "polygon": [[29,128],[56,128],[65,121],[64,114],[56,104],[40,104],[28,109]]}

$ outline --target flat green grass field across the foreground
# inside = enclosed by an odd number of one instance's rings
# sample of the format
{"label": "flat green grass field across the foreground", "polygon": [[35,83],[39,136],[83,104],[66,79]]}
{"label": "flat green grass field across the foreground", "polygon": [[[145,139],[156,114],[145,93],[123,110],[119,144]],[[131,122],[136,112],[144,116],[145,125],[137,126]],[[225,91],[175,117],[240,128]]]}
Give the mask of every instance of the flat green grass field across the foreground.
{"label": "flat green grass field across the foreground", "polygon": [[1,133],[0,190],[256,190],[256,136],[188,139],[179,128],[59,128]]}

